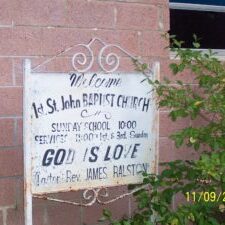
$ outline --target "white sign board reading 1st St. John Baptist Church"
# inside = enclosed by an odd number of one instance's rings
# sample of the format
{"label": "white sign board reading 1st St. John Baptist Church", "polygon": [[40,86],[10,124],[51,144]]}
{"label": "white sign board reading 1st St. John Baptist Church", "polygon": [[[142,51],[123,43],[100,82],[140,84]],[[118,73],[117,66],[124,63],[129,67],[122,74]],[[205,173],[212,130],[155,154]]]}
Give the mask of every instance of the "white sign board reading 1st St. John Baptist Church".
{"label": "white sign board reading 1st St. John Baptist Church", "polygon": [[33,194],[116,186],[155,172],[157,114],[142,74],[29,73],[25,141]]}

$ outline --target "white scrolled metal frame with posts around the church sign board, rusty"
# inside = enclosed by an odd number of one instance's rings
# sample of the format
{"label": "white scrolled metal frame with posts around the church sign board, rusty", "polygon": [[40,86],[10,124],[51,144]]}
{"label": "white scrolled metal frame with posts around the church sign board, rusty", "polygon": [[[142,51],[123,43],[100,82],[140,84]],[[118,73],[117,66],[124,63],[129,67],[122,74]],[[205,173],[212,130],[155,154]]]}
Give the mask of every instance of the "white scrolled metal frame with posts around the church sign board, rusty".
{"label": "white scrolled metal frame with posts around the church sign board, rusty", "polygon": [[[26,122],[26,118],[28,118],[31,114],[31,109],[27,109],[27,99],[29,99],[29,92],[28,92],[28,86],[27,84],[29,83],[30,80],[30,75],[31,73],[34,73],[38,68],[42,67],[43,65],[49,63],[53,59],[61,56],[62,54],[72,50],[75,46],[79,46],[84,48],[86,51],[88,51],[89,55],[87,56],[83,52],[77,52],[73,55],[72,57],[72,65],[75,71],[77,72],[88,72],[92,68],[94,62],[95,62],[95,56],[92,51],[92,44],[94,42],[99,42],[102,45],[102,48],[99,51],[98,54],[98,66],[101,68],[102,72],[104,73],[113,73],[118,70],[120,66],[120,57],[113,52],[106,52],[110,48],[115,48],[119,51],[121,51],[123,54],[126,56],[130,57],[132,60],[135,60],[137,62],[140,62],[136,57],[132,56],[129,52],[124,50],[118,45],[113,45],[113,44],[106,44],[99,38],[94,38],[92,39],[88,44],[79,44],[79,45],[74,45],[69,47],[68,49],[60,52],[56,56],[44,61],[43,63],[35,66],[33,69],[31,68],[31,61],[29,59],[26,59],[24,62],[24,94],[23,94],[23,109],[24,109],[24,114],[23,114],[23,130],[24,130],[24,136],[23,136],[23,142],[24,142],[24,213],[25,213],[25,225],[32,225],[32,198],[41,198],[41,199],[46,199],[50,201],[55,201],[55,202],[60,202],[60,203],[67,203],[67,204],[72,204],[75,206],[91,206],[94,203],[99,203],[99,204],[109,204],[114,201],[117,201],[121,198],[124,198],[126,196],[132,195],[134,192],[137,190],[143,188],[139,187],[134,189],[133,191],[130,191],[128,193],[122,194],[120,196],[117,196],[113,199],[110,200],[104,200],[104,198],[109,197],[108,189],[107,187],[99,187],[99,188],[90,188],[86,189],[83,191],[83,198],[86,200],[86,203],[80,203],[76,201],[65,201],[65,200],[60,200],[60,199],[55,199],[52,197],[48,197],[45,195],[35,195],[32,193],[32,186],[31,186],[31,180],[32,180],[32,164],[31,164],[31,149],[30,149],[30,140],[32,138],[32,135],[30,133],[30,126]],[[88,57],[90,60],[88,61]],[[111,68],[109,69],[107,66],[110,66]],[[79,68],[79,67],[82,68]],[[147,79],[159,79],[159,63],[155,62],[152,66],[151,69],[149,69],[149,73],[146,75]],[[26,109],[26,110],[25,110]],[[158,111],[155,111],[155,116],[154,116],[155,124],[154,124],[154,132],[156,134],[155,136],[155,164],[154,164],[154,172],[157,173],[158,171],[158,136],[159,136],[159,114]],[[25,135],[26,134],[26,135]],[[69,190],[68,190],[69,191]]]}

